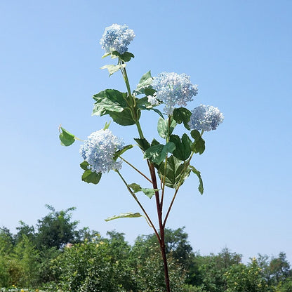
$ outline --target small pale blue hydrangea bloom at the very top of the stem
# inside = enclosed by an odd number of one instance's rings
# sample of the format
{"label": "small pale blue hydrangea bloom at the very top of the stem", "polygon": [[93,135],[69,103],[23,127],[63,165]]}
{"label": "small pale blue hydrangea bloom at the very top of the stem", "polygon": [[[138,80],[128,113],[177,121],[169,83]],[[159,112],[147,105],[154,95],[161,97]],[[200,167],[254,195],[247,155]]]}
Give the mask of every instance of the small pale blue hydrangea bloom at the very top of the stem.
{"label": "small pale blue hydrangea bloom at the very top of the stem", "polygon": [[133,29],[128,29],[127,25],[113,24],[105,28],[100,44],[105,49],[105,53],[117,51],[120,54],[124,54],[128,51],[128,45],[133,41],[134,37]]}

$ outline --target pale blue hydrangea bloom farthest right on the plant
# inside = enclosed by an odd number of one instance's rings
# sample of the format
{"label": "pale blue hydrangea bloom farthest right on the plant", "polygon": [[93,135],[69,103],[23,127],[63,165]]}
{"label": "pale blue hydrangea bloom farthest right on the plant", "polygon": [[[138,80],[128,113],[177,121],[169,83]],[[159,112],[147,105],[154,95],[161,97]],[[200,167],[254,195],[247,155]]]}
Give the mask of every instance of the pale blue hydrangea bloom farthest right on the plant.
{"label": "pale blue hydrangea bloom farthest right on the plant", "polygon": [[192,130],[215,130],[223,122],[223,114],[217,107],[211,105],[199,105],[192,110],[189,126]]}

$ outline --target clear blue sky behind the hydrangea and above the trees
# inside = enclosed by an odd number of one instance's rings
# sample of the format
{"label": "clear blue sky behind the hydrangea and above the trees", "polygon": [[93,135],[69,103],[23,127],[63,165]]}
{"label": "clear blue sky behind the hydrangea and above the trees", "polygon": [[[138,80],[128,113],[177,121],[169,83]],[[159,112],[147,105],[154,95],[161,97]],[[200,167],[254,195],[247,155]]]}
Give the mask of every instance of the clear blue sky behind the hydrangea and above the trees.
{"label": "clear blue sky behind the hydrangea and above the trees", "polygon": [[[204,134],[206,152],[195,161],[204,195],[192,176],[168,227],[185,226],[203,254],[227,246],[248,260],[284,251],[292,262],[291,14],[290,0],[1,1],[0,225],[12,232],[19,220],[34,225],[51,204],[75,206],[80,226],[116,229],[131,243],[152,232],[142,218],[105,223],[138,206],[113,172],[99,185],[81,182],[80,145],[58,140],[60,123],[85,139],[110,121],[91,117],[91,97],[126,89],[119,73],[108,78],[99,69],[110,62],[99,40],[105,27],[127,24],[136,34],[132,88],[149,69],[185,72],[199,85],[190,108],[214,105],[225,115]],[[142,117],[149,140],[156,118]],[[138,136],[134,127],[111,130],[126,143]],[[128,159],[145,167],[138,150]],[[126,167],[124,175],[134,183]]]}

